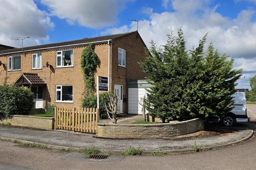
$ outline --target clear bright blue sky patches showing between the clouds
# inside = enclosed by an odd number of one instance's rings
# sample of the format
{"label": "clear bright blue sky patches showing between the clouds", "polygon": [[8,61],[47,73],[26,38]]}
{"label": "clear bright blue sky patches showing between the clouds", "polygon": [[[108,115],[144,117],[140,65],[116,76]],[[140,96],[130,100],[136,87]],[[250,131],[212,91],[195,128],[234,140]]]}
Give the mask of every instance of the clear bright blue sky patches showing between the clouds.
{"label": "clear bright blue sky patches showing between the clouds", "polygon": [[[48,13],[51,13],[51,10],[49,9],[49,7],[47,7],[47,5],[43,4],[41,1],[35,1],[35,4],[39,8],[39,10],[47,11]],[[253,1],[246,1],[246,0],[245,1],[242,1],[242,0],[241,1],[234,1],[234,0],[209,1],[210,7],[213,8],[214,6],[217,5],[218,8],[216,11],[230,19],[235,19],[238,13],[242,10],[246,10],[246,9],[254,10],[254,8],[256,7],[255,4],[256,3],[254,3]],[[125,2],[125,7],[123,8],[123,10],[116,15],[116,18],[117,18],[116,23],[108,27],[100,27],[100,28],[83,27],[79,23],[70,25],[68,22],[66,22],[65,19],[60,19],[57,16],[51,16],[51,21],[54,22],[55,27],[54,29],[49,30],[48,32],[48,35],[50,37],[49,41],[47,42],[42,41],[42,43],[55,43],[59,41],[80,39],[84,37],[101,36],[102,35],[101,32],[105,31],[107,28],[121,27],[122,25],[129,25],[131,23],[129,19],[148,20],[149,15],[143,13],[143,10],[145,10],[145,8],[147,7],[153,8],[153,11],[155,13],[174,11],[171,3],[169,3],[166,8],[163,6],[162,0],[127,1]],[[255,16],[253,16],[252,20],[255,20]],[[67,35],[67,32],[69,32],[68,35]]]}

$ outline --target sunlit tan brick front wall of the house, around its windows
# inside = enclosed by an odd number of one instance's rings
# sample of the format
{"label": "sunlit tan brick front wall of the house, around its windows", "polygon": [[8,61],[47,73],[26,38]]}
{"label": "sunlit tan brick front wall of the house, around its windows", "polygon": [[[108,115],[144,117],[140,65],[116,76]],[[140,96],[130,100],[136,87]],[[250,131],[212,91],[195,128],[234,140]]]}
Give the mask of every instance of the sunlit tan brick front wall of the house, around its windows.
{"label": "sunlit tan brick front wall of the house, around its windows", "polygon": [[[47,84],[47,87],[44,89],[44,103],[50,102],[52,105],[56,105],[59,107],[79,107],[81,106],[81,97],[84,92],[84,80],[83,73],[80,66],[80,58],[82,54],[82,50],[84,47],[76,47],[76,48],[65,48],[65,49],[74,49],[74,61],[73,67],[63,67],[57,68],[55,67],[56,60],[56,52],[57,50],[62,49],[54,49],[40,52],[42,53],[42,69],[39,70],[31,70],[32,68],[32,54],[34,53],[26,53],[21,55],[21,71],[7,71],[7,83],[11,84],[22,73],[37,73]],[[95,46],[95,53],[100,58],[100,65],[97,68],[97,73],[95,76],[101,75],[104,77],[108,77],[108,45],[101,44]],[[20,55],[20,54],[16,54]],[[0,61],[2,63],[7,63],[8,56],[1,56]],[[46,62],[49,62],[52,66],[46,67]],[[8,69],[7,69],[8,70]],[[6,71],[4,70],[3,65],[0,66],[0,84],[4,83]],[[73,85],[73,103],[57,103],[55,102],[55,86],[56,85]]]}

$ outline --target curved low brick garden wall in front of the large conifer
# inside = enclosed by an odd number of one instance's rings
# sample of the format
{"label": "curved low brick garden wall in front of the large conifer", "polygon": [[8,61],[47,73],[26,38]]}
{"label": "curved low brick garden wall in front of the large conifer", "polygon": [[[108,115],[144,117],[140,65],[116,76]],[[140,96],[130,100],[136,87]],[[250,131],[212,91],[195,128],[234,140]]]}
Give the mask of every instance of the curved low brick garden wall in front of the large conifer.
{"label": "curved low brick garden wall in front of the large conifer", "polygon": [[168,139],[204,130],[204,121],[194,118],[158,124],[103,124],[98,123],[97,137],[113,139]]}

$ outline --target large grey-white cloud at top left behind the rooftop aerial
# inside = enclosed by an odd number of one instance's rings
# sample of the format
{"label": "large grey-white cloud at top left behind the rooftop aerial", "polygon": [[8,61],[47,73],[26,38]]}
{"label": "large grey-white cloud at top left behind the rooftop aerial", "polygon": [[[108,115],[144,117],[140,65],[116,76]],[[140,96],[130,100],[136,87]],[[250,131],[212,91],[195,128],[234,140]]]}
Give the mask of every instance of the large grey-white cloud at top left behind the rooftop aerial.
{"label": "large grey-white cloud at top left behind the rooftop aerial", "polygon": [[11,40],[9,37],[29,36],[25,46],[46,40],[47,31],[54,27],[54,23],[43,11],[40,11],[33,0],[3,0],[0,6],[0,44],[21,47],[20,41]]}

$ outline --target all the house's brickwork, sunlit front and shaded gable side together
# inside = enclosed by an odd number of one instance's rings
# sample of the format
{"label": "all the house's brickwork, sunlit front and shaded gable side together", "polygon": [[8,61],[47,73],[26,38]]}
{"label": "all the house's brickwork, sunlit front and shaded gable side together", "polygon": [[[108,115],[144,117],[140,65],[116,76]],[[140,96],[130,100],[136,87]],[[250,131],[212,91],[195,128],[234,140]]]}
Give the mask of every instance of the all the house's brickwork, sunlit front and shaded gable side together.
{"label": "all the house's brickwork, sunlit front and shaded gable side together", "polygon": [[[21,71],[7,71],[7,83],[11,84],[22,73],[38,73],[40,77],[46,82],[47,87],[44,89],[44,102],[50,102],[52,105],[59,107],[79,107],[81,106],[81,98],[84,92],[84,80],[80,66],[80,59],[83,47],[70,47],[41,51],[42,53],[42,69],[31,70],[32,54],[23,53],[0,56],[2,63],[8,63],[8,57],[14,55],[21,55]],[[126,67],[118,66],[118,47],[126,50]],[[57,50],[74,49],[73,67],[56,68],[56,52]],[[95,53],[100,58],[100,65],[97,68],[95,77],[100,75],[108,77],[108,44],[100,44],[95,46]],[[126,79],[145,79],[145,74],[142,72],[138,62],[145,59],[145,45],[137,33],[132,33],[123,38],[118,38],[111,42],[111,90],[114,90],[114,84],[121,84],[124,87],[124,98],[126,102],[123,103],[123,112],[126,113],[127,104],[127,87]],[[52,67],[46,67],[45,63],[49,62]],[[6,65],[7,67],[8,65]],[[7,69],[7,68],[6,68]],[[6,71],[3,65],[0,66],[0,84],[4,83]],[[95,79],[96,80],[96,79]],[[73,85],[73,103],[55,103],[55,86],[56,85]]]}

